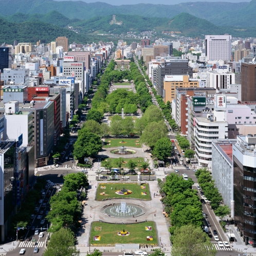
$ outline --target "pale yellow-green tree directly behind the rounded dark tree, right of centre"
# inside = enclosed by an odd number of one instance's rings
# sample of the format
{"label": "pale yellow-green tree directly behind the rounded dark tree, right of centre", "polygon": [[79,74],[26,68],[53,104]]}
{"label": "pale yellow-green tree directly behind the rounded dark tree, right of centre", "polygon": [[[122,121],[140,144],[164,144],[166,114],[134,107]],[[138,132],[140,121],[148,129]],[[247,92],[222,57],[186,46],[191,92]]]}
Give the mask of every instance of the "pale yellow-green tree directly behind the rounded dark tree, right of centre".
{"label": "pale yellow-green tree directly behind the rounded dark tree, right of centre", "polygon": [[165,137],[167,133],[168,129],[163,122],[151,122],[145,127],[140,140],[153,149],[157,140]]}

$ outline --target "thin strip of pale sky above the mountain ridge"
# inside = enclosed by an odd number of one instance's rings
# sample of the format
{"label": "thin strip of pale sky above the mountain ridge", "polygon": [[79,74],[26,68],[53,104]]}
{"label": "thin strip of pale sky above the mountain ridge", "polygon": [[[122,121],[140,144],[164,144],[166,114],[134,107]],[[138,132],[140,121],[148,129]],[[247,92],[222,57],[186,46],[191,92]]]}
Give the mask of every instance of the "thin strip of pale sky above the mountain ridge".
{"label": "thin strip of pale sky above the mountain ridge", "polygon": [[[67,0],[54,0],[54,1],[67,1]],[[102,2],[109,5],[136,5],[136,4],[154,4],[154,5],[176,5],[180,3],[187,3],[187,2],[230,2],[230,3],[240,3],[240,2],[250,2],[249,0],[205,0],[205,1],[198,1],[198,0],[158,0],[157,2],[155,0],[130,0],[128,2],[126,1],[120,1],[120,0],[69,0],[69,1],[83,1],[86,3],[96,3],[96,2]]]}

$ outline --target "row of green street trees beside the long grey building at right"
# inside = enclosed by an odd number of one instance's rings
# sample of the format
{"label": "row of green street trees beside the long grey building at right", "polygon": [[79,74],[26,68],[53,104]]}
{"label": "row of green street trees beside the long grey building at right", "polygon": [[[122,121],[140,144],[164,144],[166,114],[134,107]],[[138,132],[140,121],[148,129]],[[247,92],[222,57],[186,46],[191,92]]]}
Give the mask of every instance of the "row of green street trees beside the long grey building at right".
{"label": "row of green street trees beside the long grey building at right", "polygon": [[197,181],[204,191],[206,198],[211,201],[211,207],[215,214],[221,218],[230,214],[229,207],[221,205],[223,197],[215,187],[214,179],[212,179],[210,172],[206,168],[198,169],[195,176],[197,177]]}

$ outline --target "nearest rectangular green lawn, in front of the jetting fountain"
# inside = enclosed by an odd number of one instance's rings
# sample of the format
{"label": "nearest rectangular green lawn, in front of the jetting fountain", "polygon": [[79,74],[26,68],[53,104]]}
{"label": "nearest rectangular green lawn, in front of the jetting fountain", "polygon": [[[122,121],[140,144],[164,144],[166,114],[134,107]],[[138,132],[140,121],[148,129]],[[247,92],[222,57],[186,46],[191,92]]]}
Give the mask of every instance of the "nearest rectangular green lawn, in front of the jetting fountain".
{"label": "nearest rectangular green lawn, in front of the jetting fountain", "polygon": [[[150,231],[145,230],[146,226],[152,227],[152,230]],[[101,227],[101,231],[95,231],[95,227]],[[130,232],[131,234],[128,236],[118,235],[117,232],[123,231],[123,229],[124,231]],[[100,241],[94,241],[95,236],[100,236]],[[147,241],[147,236],[153,236],[153,241]],[[157,245],[158,242],[157,242],[157,236],[156,236],[155,223],[142,222],[142,223],[136,223],[136,224],[109,224],[109,223],[103,223],[103,222],[94,222],[92,224],[92,231],[90,232],[90,244],[91,245],[115,245],[115,244]]]}

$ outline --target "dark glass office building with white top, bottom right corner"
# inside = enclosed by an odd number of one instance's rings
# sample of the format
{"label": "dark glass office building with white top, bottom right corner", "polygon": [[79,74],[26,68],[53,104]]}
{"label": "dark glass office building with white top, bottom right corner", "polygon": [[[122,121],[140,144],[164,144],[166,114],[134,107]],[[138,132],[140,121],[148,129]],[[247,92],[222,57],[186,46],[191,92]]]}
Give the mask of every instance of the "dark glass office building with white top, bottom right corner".
{"label": "dark glass office building with white top, bottom right corner", "polygon": [[246,246],[256,247],[256,137],[237,136],[233,144],[234,222]]}

